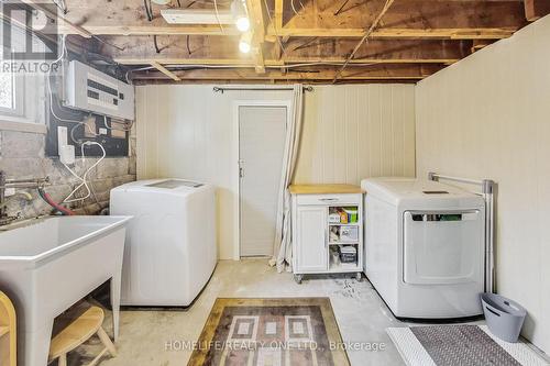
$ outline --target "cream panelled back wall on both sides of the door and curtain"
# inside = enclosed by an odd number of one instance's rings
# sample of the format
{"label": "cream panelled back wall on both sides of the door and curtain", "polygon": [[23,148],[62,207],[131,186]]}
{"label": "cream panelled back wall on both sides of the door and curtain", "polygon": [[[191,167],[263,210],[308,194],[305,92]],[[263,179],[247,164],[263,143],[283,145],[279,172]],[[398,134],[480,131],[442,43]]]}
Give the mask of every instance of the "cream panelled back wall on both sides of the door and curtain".
{"label": "cream panelled back wall on both sides of the door and curtain", "polygon": [[[237,253],[237,100],[289,100],[288,91],[212,92],[212,86],[136,88],[138,178],[180,177],[218,187],[220,258]],[[296,182],[352,182],[415,174],[414,87],[315,87],[306,92]]]}

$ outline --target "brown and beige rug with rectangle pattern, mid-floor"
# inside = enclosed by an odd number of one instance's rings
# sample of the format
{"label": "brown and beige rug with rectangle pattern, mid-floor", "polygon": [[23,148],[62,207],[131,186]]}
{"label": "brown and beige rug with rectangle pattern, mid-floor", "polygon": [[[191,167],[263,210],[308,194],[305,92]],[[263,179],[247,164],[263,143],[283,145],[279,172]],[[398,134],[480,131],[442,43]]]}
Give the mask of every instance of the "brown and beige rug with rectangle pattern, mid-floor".
{"label": "brown and beige rug with rectangle pattern, mid-floor", "polygon": [[217,299],[188,365],[350,365],[329,298]]}

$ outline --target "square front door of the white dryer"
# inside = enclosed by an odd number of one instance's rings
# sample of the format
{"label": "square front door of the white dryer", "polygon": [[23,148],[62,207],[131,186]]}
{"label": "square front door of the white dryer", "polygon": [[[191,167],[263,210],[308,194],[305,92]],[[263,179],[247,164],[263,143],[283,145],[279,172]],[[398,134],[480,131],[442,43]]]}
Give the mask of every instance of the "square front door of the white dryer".
{"label": "square front door of the white dryer", "polygon": [[480,281],[484,231],[479,210],[404,212],[403,280],[418,285]]}

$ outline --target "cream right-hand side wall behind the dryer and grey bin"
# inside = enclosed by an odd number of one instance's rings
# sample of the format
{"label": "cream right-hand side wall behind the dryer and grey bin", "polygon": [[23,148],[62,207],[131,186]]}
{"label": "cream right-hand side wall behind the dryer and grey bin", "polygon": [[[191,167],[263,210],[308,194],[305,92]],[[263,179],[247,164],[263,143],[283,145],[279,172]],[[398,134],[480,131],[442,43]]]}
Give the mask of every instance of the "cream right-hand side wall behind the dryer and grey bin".
{"label": "cream right-hand side wall behind the dryer and grey bin", "polygon": [[416,102],[419,176],[498,182],[497,291],[550,353],[550,16],[425,79]]}

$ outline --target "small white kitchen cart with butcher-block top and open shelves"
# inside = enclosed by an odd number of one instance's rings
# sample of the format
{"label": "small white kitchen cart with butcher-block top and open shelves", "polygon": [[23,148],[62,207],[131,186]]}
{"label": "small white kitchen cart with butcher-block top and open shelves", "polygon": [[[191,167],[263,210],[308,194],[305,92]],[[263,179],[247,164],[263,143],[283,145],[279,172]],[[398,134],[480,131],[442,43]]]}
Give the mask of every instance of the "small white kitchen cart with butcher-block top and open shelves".
{"label": "small white kitchen cart with butcher-block top and open shelves", "polygon": [[[330,189],[328,189],[329,187]],[[355,186],[292,186],[293,271],[363,271],[363,195]]]}

